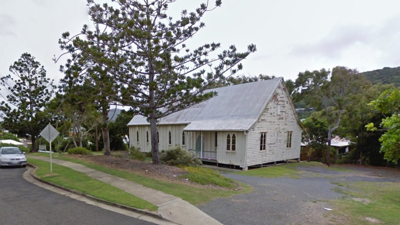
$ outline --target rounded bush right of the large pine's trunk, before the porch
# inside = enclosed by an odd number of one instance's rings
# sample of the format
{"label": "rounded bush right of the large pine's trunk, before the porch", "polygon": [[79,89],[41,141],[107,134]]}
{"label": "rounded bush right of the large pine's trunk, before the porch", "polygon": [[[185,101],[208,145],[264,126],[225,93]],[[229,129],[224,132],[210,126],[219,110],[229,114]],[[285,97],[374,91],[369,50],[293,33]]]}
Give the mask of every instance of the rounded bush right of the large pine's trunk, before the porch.
{"label": "rounded bush right of the large pine's trunk, before the porch", "polygon": [[162,151],[160,159],[163,163],[170,166],[199,166],[202,165],[200,159],[194,154],[182,149],[180,146],[175,146],[174,149]]}

